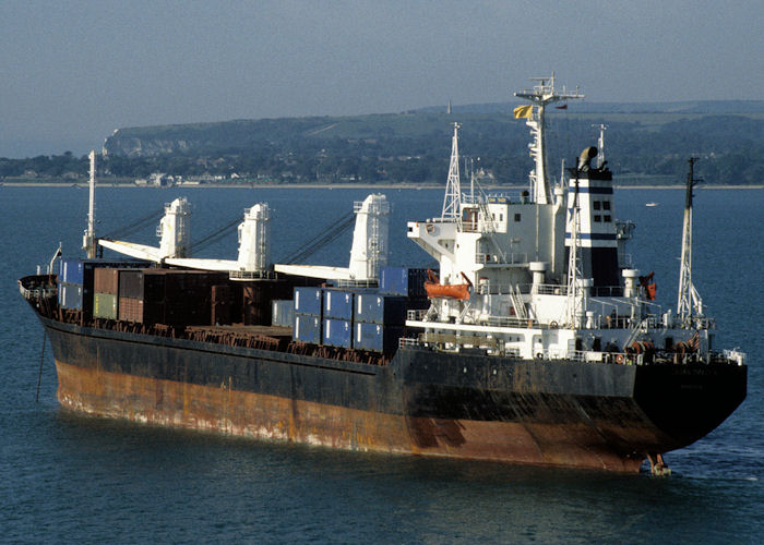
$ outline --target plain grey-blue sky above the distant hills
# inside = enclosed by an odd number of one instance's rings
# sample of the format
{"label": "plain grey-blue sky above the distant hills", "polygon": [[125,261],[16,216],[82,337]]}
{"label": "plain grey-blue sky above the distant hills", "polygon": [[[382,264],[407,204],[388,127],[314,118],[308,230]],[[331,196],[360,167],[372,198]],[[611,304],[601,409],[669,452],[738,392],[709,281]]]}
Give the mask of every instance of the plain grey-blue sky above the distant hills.
{"label": "plain grey-blue sky above the distant hills", "polygon": [[502,102],[764,99],[761,0],[0,0],[0,157],[116,129]]}

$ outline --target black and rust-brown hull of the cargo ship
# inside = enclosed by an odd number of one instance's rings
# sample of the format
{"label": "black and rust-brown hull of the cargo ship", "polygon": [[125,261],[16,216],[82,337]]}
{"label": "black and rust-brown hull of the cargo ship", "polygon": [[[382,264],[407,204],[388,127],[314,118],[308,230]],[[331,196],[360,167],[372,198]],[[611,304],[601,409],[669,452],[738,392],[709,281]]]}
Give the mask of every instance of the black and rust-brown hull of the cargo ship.
{"label": "black and rust-brown hull of the cargo ship", "polygon": [[745,367],[729,365],[421,349],[370,365],[41,319],[65,408],[342,449],[633,472],[707,434],[745,395]]}

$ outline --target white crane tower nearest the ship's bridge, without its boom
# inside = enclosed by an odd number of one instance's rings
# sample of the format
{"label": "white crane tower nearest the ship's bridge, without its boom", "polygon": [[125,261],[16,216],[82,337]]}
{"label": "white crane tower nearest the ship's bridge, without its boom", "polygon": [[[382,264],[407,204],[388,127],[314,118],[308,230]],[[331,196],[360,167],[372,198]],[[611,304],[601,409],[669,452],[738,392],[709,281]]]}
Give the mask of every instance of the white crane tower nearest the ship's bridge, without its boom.
{"label": "white crane tower nearest the ship's bridge, without its boom", "polygon": [[356,281],[375,280],[380,267],[387,264],[390,203],[372,194],[355,203],[356,229],[350,250],[350,277]]}

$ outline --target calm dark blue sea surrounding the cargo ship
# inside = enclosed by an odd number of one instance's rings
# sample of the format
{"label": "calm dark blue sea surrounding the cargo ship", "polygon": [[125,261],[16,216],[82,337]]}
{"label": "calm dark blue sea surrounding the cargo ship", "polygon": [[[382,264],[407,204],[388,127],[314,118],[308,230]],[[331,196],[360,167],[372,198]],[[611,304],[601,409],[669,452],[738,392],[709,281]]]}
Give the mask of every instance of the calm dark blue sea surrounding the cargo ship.
{"label": "calm dark blue sea surrounding the cargo ship", "polygon": [[[426,266],[405,221],[440,214],[439,191],[392,201],[392,265]],[[104,189],[108,234],[176,196],[201,239],[258,202],[273,209],[273,257],[353,209],[362,190]],[[676,307],[683,192],[621,191],[629,251]],[[645,207],[647,202],[659,206]],[[696,193],[693,279],[717,347],[749,354],[749,395],[706,438],[669,452],[668,479],[392,457],[82,417],[59,409],[50,347],[16,279],[59,241],[77,256],[87,191],[0,186],[0,540],[4,543],[759,543],[764,536],[764,191]],[[155,243],[152,222],[131,237]],[[350,234],[311,263],[345,265]],[[203,256],[234,258],[236,234]]]}

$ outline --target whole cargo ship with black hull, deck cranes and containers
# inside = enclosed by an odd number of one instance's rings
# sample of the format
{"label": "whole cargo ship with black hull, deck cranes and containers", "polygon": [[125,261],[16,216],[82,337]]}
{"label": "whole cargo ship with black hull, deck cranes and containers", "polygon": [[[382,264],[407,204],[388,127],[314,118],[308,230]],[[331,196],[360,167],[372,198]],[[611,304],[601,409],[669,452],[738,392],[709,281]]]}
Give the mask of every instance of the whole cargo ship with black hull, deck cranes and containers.
{"label": "whole cargo ship with black hull, deck cranes and containers", "polygon": [[407,225],[433,270],[387,265],[382,194],[331,229],[355,221],[348,267],[299,264],[310,245],[272,263],[266,203],[244,211],[237,259],[189,255],[184,198],[166,206],[158,246],[98,238],[92,154],[87,257],[59,249],[19,280],[60,404],[341,449],[667,473],[665,452],[747,395],[745,354],[716,349],[692,281],[693,162],[664,311],[625,252],[634,226],[616,219],[602,130],[550,181],[545,108],[583,96],[553,76],[515,96],[529,102],[514,110],[533,137],[528,189],[487,193],[473,173],[463,191],[454,124],[441,216]]}

